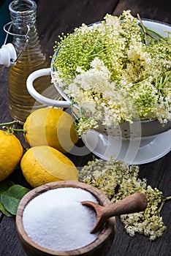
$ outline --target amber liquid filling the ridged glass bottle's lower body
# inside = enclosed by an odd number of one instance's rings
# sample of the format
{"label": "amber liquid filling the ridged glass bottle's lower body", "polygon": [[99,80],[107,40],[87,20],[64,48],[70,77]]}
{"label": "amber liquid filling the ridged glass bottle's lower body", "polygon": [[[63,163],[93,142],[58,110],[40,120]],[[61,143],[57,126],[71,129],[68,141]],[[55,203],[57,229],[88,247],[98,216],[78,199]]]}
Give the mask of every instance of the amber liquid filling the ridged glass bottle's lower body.
{"label": "amber liquid filling the ridged glass bottle's lower body", "polygon": [[[34,55],[32,57],[34,59]],[[37,59],[37,56],[35,56],[35,59]],[[9,111],[12,118],[21,123],[26,121],[27,116],[32,110],[45,107],[45,105],[36,102],[26,88],[26,80],[31,72],[34,72],[37,69],[50,67],[50,64],[46,60],[39,63],[40,59],[37,59],[36,65],[35,59],[32,67],[31,59],[29,61],[24,58],[20,60],[18,59],[17,64],[14,67],[11,67],[9,72]],[[48,87],[49,93],[45,96],[54,98],[54,94],[56,94],[56,99],[58,99],[57,91],[55,91],[52,85],[50,86],[50,76],[43,76],[34,81],[34,88],[40,94],[42,94]],[[52,90],[51,92],[50,89]]]}

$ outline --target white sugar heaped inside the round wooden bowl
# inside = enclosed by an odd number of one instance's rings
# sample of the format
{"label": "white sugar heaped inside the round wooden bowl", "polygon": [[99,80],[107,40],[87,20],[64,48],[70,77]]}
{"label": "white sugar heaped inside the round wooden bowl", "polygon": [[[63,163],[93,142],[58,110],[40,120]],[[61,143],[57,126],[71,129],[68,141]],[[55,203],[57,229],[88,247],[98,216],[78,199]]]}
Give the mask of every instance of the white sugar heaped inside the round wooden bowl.
{"label": "white sugar heaped inside the round wooden bowl", "polygon": [[34,197],[23,211],[23,227],[40,246],[69,251],[90,244],[99,233],[90,231],[96,214],[80,202],[96,198],[84,189],[58,188]]}

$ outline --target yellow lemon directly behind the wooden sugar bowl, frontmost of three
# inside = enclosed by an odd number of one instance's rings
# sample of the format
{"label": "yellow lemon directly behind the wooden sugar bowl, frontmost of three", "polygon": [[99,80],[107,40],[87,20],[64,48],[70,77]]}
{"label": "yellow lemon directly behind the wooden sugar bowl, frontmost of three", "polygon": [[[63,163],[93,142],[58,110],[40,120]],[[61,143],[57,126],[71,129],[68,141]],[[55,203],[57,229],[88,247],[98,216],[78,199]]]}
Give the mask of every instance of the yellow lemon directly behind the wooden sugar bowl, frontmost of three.
{"label": "yellow lemon directly behind the wooden sugar bowl, frontmost of three", "polygon": [[72,161],[50,146],[29,148],[20,162],[23,176],[31,187],[53,181],[77,181],[78,171]]}

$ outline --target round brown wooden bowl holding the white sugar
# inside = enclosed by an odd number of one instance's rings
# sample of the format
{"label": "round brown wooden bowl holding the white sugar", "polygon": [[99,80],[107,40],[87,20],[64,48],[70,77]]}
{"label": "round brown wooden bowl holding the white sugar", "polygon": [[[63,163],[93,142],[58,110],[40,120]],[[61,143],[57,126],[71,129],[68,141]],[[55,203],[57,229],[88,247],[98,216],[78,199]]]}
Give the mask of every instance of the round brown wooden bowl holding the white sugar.
{"label": "round brown wooden bowl holding the white sugar", "polygon": [[31,240],[31,238],[28,237],[26,234],[26,231],[23,227],[23,211],[26,205],[29,203],[30,200],[32,200],[34,197],[37,197],[37,195],[42,194],[43,192],[46,192],[50,189],[56,189],[61,187],[74,187],[74,188],[80,188],[85,189],[88,192],[91,192],[94,197],[96,197],[96,200],[98,200],[100,205],[106,206],[110,204],[110,200],[104,195],[103,192],[101,192],[99,189],[96,189],[88,184],[83,184],[79,181],[56,181],[49,184],[42,185],[40,187],[37,187],[35,189],[32,189],[30,192],[28,192],[20,201],[20,204],[18,206],[18,212],[16,215],[16,226],[18,231],[18,237],[20,240],[20,244],[23,246],[24,251],[27,253],[27,255],[30,256],[50,256],[50,255],[58,255],[58,256],[64,256],[64,255],[92,255],[92,256],[103,256],[106,255],[107,251],[110,249],[110,247],[113,244],[113,240],[115,237],[115,217],[111,217],[107,220],[106,225],[103,227],[101,233],[96,238],[95,241],[93,241],[91,244],[88,244],[87,246],[83,246],[79,249],[74,249],[71,251],[54,251],[47,249],[45,247],[39,246],[34,241]]}

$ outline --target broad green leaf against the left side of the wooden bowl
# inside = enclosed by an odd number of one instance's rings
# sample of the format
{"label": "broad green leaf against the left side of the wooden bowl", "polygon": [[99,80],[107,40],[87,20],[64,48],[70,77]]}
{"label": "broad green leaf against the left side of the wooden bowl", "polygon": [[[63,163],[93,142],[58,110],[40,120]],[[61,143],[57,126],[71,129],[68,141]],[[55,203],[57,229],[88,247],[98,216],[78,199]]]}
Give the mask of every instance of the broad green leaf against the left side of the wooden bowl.
{"label": "broad green leaf against the left side of the wooden bowl", "polygon": [[29,191],[20,185],[13,185],[1,193],[1,203],[9,213],[16,215],[21,198]]}

